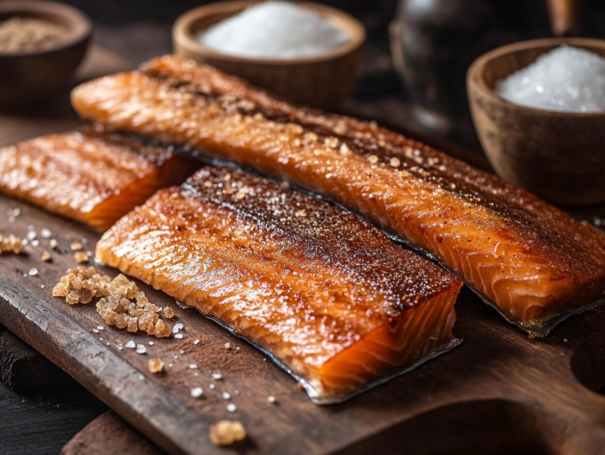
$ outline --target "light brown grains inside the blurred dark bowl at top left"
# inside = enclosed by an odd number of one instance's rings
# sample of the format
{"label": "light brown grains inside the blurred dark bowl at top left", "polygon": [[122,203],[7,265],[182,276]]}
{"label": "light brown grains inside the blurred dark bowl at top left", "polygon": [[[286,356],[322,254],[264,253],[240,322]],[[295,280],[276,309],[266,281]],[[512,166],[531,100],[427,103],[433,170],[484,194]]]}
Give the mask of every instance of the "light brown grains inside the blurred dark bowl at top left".
{"label": "light brown grains inside the blurred dark bowl at top left", "polygon": [[41,51],[53,47],[68,36],[64,25],[44,19],[15,16],[0,22],[0,52]]}

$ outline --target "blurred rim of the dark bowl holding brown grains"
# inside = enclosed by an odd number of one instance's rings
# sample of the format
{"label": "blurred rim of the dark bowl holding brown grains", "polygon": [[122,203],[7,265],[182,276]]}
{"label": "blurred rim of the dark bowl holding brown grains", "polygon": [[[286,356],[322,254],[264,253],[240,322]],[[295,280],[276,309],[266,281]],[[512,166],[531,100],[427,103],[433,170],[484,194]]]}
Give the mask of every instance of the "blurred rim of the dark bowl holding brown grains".
{"label": "blurred rim of the dark bowl holding brown grains", "polygon": [[7,57],[29,57],[41,56],[64,50],[73,45],[87,40],[93,33],[93,22],[83,11],[68,4],[50,1],[50,0],[4,0],[0,2],[0,13],[14,15],[27,13],[48,13],[51,15],[62,16],[69,22],[69,33],[67,38],[60,40],[51,47],[40,50],[2,52],[0,58]]}

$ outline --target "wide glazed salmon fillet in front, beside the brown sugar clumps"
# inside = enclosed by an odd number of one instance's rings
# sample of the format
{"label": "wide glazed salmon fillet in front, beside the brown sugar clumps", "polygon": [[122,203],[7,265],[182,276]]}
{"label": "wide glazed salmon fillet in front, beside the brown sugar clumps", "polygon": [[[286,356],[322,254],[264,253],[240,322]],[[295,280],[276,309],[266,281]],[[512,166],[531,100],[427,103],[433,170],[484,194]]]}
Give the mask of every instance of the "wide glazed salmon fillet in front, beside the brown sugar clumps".
{"label": "wide glazed salmon fillet in front, beside the brown sugar clumps", "polygon": [[239,170],[160,190],[96,256],[247,338],[319,403],[455,344],[460,280],[350,212]]}

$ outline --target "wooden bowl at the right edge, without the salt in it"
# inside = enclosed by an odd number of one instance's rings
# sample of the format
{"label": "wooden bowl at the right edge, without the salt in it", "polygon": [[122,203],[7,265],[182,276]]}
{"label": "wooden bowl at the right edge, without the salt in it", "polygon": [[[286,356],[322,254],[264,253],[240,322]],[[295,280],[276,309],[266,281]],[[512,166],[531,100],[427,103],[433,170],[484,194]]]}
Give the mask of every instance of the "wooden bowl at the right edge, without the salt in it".
{"label": "wooden bowl at the right edge, without the salt in it", "polygon": [[494,90],[503,79],[561,44],[605,56],[605,40],[536,39],[479,57],[466,75],[471,113],[495,172],[554,204],[605,201],[605,112],[554,112],[516,105]]}

